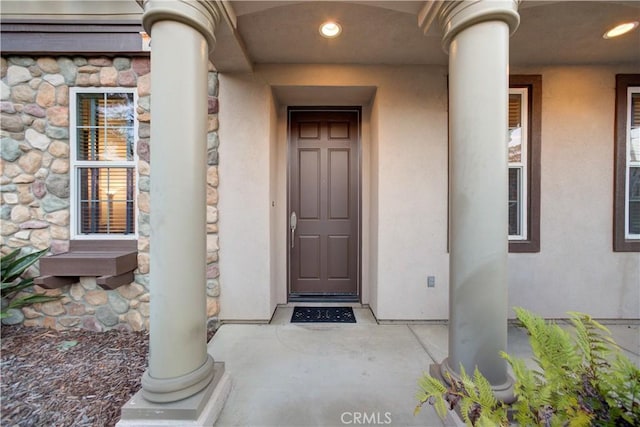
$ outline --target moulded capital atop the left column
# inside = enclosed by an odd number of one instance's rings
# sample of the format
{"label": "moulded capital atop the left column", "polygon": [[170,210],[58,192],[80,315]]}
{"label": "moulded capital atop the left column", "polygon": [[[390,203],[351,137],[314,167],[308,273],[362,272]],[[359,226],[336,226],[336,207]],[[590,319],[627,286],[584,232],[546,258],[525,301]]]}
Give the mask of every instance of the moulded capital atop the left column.
{"label": "moulded capital atop the left column", "polygon": [[220,22],[220,5],[211,0],[136,0],[144,9],[142,26],[153,38],[157,21],[178,21],[198,30],[207,40],[209,56],[215,49],[215,30]]}

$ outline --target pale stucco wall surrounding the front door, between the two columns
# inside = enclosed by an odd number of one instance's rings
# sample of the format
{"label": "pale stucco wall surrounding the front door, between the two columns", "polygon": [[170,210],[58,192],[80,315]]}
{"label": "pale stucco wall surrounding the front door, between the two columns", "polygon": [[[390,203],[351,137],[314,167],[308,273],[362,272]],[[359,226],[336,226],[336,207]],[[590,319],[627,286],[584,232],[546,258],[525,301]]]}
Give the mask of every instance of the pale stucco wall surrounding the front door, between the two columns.
{"label": "pale stucco wall surrounding the front door, between the two columns", "polygon": [[[268,148],[269,87],[288,87],[294,91],[300,88],[296,99],[304,99],[302,92],[312,86],[331,87],[338,94],[339,88],[344,87],[344,97],[337,98],[336,105],[345,105],[353,98],[349,87],[376,88],[375,99],[368,99],[363,104],[362,241],[366,244],[362,250],[362,277],[366,278],[362,282],[363,302],[371,303],[380,318],[446,317],[446,170],[441,167],[446,165],[447,158],[444,68],[261,66],[252,76],[221,75],[220,98],[225,107],[220,113],[220,135],[222,141],[233,141],[221,144],[224,160],[220,168],[220,191],[225,194],[220,202],[220,239],[225,248],[221,256],[221,286],[224,288],[221,319],[255,319],[256,313],[251,312],[249,306],[260,306],[260,309],[264,306],[264,301],[258,302],[255,298],[255,293],[262,290],[253,285],[260,279],[250,278],[245,263],[235,256],[248,260],[274,257],[275,267],[272,264],[271,268],[277,268],[279,273],[275,275],[275,282],[272,279],[268,286],[277,289],[276,294],[271,294],[272,298],[276,295],[277,300],[271,300],[267,305],[275,307],[276,303],[286,302],[286,228],[272,227],[276,230],[272,238],[278,242],[276,246],[282,248],[275,254],[267,253],[267,245],[258,244],[243,252],[238,246],[238,252],[230,253],[226,243],[227,239],[262,236],[259,217],[266,218],[270,212],[280,216],[280,219],[276,218],[276,224],[286,224],[286,210],[274,211],[269,205],[254,202],[255,199],[249,196],[254,189],[240,189],[253,182],[260,185],[257,183],[259,176],[272,180],[275,174],[278,188],[271,192],[275,195],[272,201],[276,207],[286,207],[286,110],[282,108],[279,115],[281,132],[278,133],[276,170],[268,170],[273,166],[268,158],[251,162],[246,168],[231,167],[227,162],[230,162],[230,156],[238,155],[236,150],[252,147],[255,152]],[[227,109],[227,103],[234,105],[233,111]],[[309,99],[309,104],[313,103]],[[262,111],[262,118],[255,116],[258,111]],[[434,127],[430,123],[433,113],[441,126]],[[240,114],[241,118],[232,118],[234,114]],[[233,120],[237,127],[233,126]],[[260,136],[254,135],[254,130],[248,130],[247,126],[256,128]],[[261,128],[257,129],[257,126]],[[237,159],[241,161],[239,157]],[[227,198],[230,192],[238,197],[234,204]],[[225,212],[233,213],[233,224],[226,222]],[[416,212],[423,214],[419,221],[412,223],[412,215]],[[372,263],[372,259],[378,259],[378,265]],[[253,261],[249,262],[253,264]],[[411,267],[407,268],[408,265]],[[249,270],[254,268],[257,267],[252,265]],[[237,273],[233,273],[234,270]],[[261,280],[274,277],[272,273],[262,271]],[[441,286],[427,289],[427,275],[442,279]],[[266,284],[261,286],[267,290]],[[262,319],[267,320],[266,317]]]}

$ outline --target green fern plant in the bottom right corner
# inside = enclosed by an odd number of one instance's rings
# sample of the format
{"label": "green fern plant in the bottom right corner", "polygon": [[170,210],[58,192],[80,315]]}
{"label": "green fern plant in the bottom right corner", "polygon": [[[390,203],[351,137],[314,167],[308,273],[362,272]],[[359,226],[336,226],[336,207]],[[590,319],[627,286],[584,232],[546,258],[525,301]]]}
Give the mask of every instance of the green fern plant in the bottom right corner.
{"label": "green fern plant in the bottom right corner", "polygon": [[419,412],[426,403],[440,417],[456,406],[469,426],[635,426],[640,425],[640,369],[625,357],[609,330],[582,313],[569,313],[573,334],[522,308],[515,309],[529,333],[535,369],[501,353],[515,376],[516,402],[507,408],[493,396],[476,369],[448,384],[425,374],[419,380]]}

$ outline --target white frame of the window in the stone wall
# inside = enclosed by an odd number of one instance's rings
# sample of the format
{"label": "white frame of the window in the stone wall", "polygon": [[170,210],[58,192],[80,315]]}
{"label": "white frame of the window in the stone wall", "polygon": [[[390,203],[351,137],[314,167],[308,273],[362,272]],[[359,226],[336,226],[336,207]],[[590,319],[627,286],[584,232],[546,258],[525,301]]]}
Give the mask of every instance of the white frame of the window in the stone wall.
{"label": "white frame of the window in the stone wall", "polygon": [[[124,161],[94,161],[94,160],[78,160],[78,95],[82,94],[110,94],[110,93],[126,93],[133,95],[133,159]],[[138,113],[136,106],[138,105],[138,91],[131,87],[73,87],[69,88],[69,224],[71,240],[136,240],[138,238]],[[120,233],[80,233],[80,179],[79,171],[81,168],[128,168],[133,169],[135,176],[133,188],[133,222],[134,232],[131,234]]]}

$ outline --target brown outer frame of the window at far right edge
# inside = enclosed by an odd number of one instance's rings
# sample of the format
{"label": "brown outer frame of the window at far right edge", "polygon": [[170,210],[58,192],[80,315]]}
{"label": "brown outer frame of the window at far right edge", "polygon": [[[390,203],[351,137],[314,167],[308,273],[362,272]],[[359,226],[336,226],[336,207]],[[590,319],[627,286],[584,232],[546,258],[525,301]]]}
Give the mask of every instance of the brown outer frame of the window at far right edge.
{"label": "brown outer frame of the window at far right edge", "polygon": [[614,127],[614,198],[613,198],[613,250],[614,252],[640,252],[640,237],[629,237],[627,182],[629,173],[629,119],[630,89],[640,87],[640,74],[616,75],[615,127]]}

